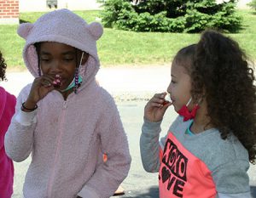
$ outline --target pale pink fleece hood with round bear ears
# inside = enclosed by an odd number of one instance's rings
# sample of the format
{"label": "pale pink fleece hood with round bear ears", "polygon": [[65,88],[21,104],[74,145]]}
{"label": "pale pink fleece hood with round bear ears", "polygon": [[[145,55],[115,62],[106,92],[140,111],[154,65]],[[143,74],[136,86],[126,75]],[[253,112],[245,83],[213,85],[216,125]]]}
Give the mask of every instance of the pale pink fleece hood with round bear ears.
{"label": "pale pink fleece hood with round bear ears", "polygon": [[17,33],[26,40],[23,59],[32,76],[38,76],[38,54],[33,44],[61,42],[90,54],[87,62],[80,67],[79,74],[83,76],[85,82],[95,78],[100,67],[96,48],[96,41],[103,33],[100,23],[87,24],[84,19],[70,10],[59,9],[44,14],[33,24],[21,24]]}

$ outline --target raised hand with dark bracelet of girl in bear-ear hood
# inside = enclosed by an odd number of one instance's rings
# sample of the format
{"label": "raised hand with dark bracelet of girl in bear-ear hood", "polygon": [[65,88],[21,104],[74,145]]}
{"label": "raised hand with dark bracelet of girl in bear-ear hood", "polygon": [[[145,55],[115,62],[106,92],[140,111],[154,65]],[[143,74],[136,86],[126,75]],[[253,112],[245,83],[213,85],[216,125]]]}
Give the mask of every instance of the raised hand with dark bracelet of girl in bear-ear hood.
{"label": "raised hand with dark bracelet of girl in bear-ear hood", "polygon": [[24,104],[26,108],[34,108],[40,99],[43,99],[49,92],[51,92],[54,89],[54,80],[54,76],[49,75],[43,75],[35,78],[28,98]]}

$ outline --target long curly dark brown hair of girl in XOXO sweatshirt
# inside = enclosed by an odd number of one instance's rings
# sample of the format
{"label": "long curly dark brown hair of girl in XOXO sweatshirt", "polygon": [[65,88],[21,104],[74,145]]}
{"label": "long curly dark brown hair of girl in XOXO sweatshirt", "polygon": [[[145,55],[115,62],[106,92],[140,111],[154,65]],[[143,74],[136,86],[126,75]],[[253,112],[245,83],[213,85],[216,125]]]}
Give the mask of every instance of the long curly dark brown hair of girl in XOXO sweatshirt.
{"label": "long curly dark brown hair of girl in XOXO sweatshirt", "polygon": [[252,66],[236,41],[218,31],[204,31],[191,67],[191,94],[195,99],[205,97],[210,124],[218,128],[222,139],[234,133],[255,164],[256,88]]}

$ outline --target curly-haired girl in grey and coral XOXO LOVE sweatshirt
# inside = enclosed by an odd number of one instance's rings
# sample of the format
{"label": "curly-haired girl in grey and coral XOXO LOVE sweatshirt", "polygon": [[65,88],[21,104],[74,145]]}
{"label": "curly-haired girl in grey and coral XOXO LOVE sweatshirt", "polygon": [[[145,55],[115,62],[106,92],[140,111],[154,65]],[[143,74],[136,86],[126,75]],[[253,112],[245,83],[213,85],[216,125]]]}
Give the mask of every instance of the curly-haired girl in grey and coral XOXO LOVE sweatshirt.
{"label": "curly-haired girl in grey and coral XOXO LOVE sweatshirt", "polygon": [[[172,82],[144,110],[141,156],[159,172],[162,197],[251,197],[247,169],[255,162],[256,107],[253,69],[239,45],[217,31],[181,49]],[[173,105],[179,116],[158,141]],[[160,154],[160,155],[159,155]]]}

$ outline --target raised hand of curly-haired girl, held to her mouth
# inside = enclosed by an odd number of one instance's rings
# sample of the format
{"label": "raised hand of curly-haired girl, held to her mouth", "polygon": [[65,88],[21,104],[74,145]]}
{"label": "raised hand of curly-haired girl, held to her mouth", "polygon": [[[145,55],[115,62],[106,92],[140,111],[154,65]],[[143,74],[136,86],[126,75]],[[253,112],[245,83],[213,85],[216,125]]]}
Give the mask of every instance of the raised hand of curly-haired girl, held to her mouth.
{"label": "raised hand of curly-haired girl, held to her mouth", "polygon": [[144,108],[144,117],[150,122],[159,122],[163,119],[166,109],[172,105],[167,102],[165,97],[167,93],[156,93],[150,99]]}

